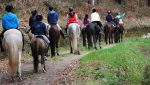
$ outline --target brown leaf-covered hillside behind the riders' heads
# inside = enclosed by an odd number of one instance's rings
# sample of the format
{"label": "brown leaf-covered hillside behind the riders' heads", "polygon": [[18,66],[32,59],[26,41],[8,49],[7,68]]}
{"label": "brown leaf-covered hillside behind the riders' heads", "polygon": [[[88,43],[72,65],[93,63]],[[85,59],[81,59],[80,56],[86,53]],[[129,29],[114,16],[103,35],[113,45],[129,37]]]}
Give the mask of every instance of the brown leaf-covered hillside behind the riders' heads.
{"label": "brown leaf-covered hillside behind the riders' heads", "polygon": [[[11,0],[3,0],[0,4],[1,12],[0,15],[4,13],[4,6]],[[147,0],[122,0],[122,4],[118,4],[115,0],[95,0],[96,5],[90,4],[88,0],[13,0],[11,3],[15,6],[15,12],[20,18],[21,22],[28,22],[30,16],[30,10],[32,7],[36,7],[40,13],[46,16],[48,13],[48,6],[53,5],[55,10],[59,13],[59,23],[65,25],[66,23],[66,13],[69,6],[74,6],[76,12],[78,13],[79,19],[83,19],[84,15],[90,14],[91,9],[95,7],[99,14],[103,24],[105,23],[105,16],[108,10],[111,10],[115,15],[116,12],[121,11],[126,13],[125,26],[126,29],[140,26],[149,26],[149,12],[150,9],[147,6]],[[22,16],[23,15],[23,16]],[[65,22],[63,22],[65,21]]]}

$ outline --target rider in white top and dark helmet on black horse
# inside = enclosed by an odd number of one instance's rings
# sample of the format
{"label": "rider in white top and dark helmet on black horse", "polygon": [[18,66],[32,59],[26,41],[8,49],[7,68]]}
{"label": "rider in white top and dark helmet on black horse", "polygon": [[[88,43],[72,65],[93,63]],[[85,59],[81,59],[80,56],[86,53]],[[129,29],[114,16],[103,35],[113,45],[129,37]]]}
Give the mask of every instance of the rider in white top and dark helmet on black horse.
{"label": "rider in white top and dark helmet on black horse", "polygon": [[96,9],[92,9],[92,14],[91,14],[91,22],[98,24],[100,27],[102,27],[102,23],[100,20],[100,15],[96,12]]}

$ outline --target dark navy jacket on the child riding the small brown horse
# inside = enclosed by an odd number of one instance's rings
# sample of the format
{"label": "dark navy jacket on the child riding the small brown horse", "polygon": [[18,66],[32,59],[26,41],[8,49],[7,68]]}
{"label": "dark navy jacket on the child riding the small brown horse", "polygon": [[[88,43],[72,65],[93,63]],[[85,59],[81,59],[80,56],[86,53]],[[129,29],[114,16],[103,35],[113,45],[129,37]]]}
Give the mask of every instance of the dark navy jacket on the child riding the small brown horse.
{"label": "dark navy jacket on the child riding the small brown horse", "polygon": [[31,29],[31,33],[34,35],[46,35],[46,25],[41,21],[36,21],[33,24],[33,29]]}

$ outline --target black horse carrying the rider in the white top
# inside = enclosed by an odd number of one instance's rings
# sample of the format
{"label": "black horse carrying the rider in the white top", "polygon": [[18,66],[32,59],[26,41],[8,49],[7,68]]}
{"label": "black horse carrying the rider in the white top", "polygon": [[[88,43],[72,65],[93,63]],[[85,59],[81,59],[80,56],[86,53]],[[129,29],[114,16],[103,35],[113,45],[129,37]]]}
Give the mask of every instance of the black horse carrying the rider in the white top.
{"label": "black horse carrying the rider in the white top", "polygon": [[97,49],[96,42],[99,39],[99,47],[101,48],[100,42],[101,42],[101,34],[102,28],[98,26],[96,23],[90,23],[86,28],[86,35],[88,40],[88,48],[90,49],[93,47]]}

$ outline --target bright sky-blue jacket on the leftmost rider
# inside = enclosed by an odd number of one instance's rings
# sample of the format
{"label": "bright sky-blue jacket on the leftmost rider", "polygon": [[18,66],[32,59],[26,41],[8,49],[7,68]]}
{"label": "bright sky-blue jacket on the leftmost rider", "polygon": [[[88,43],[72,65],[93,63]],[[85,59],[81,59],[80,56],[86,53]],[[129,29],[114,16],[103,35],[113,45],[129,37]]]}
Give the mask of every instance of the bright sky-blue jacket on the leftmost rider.
{"label": "bright sky-blue jacket on the leftmost rider", "polygon": [[19,27],[18,17],[11,12],[4,14],[2,17],[2,27],[4,30],[18,29]]}

